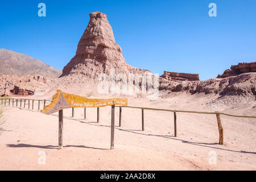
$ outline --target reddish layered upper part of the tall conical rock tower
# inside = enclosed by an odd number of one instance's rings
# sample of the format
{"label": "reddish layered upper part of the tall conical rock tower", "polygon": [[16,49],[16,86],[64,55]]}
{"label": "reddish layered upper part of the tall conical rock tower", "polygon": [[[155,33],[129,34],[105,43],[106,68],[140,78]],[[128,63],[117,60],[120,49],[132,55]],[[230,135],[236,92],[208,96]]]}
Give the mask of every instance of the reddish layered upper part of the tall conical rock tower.
{"label": "reddish layered upper part of the tall conical rock tower", "polygon": [[90,13],[90,21],[82,35],[75,57],[64,67],[60,77],[84,75],[97,80],[100,73],[151,73],[131,67],[122,56],[122,49],[115,43],[112,27],[104,13]]}

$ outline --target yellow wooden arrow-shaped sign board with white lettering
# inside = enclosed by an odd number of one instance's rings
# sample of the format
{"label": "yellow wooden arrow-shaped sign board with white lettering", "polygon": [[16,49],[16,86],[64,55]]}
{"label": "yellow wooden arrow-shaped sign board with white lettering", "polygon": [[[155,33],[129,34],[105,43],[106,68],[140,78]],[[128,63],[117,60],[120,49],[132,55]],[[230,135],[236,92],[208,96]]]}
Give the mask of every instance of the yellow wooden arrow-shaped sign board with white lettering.
{"label": "yellow wooden arrow-shaped sign board with white lettering", "polygon": [[57,93],[52,97],[51,104],[47,105],[41,112],[52,114],[71,107],[104,107],[112,105],[127,106],[127,98],[86,98],[57,90]]}

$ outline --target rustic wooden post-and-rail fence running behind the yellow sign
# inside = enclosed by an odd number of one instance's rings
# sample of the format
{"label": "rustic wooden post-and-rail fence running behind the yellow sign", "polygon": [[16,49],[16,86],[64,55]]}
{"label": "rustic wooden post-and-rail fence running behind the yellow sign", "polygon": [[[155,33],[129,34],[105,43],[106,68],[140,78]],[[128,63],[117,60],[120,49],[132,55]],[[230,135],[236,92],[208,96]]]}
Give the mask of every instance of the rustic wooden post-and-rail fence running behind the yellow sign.
{"label": "rustic wooden post-and-rail fence running behind the yellow sign", "polygon": [[[43,108],[46,106],[46,101],[52,102],[49,100],[31,100],[31,99],[22,99],[22,98],[1,98],[1,104],[6,106],[6,100],[9,101],[7,106],[11,106],[11,101],[12,101],[12,106],[14,106],[14,103],[16,102],[16,107],[18,107],[18,102],[19,107],[22,107],[22,101],[24,101],[23,108],[26,108],[26,101],[28,101],[28,109],[30,109],[30,101],[32,101],[32,110],[34,110],[34,101],[38,102],[38,110],[40,110],[40,102],[43,101]],[[249,116],[249,115],[234,115],[234,114],[227,114],[227,113],[222,113],[219,111],[215,112],[205,112],[205,111],[189,111],[189,110],[170,110],[170,109],[158,109],[158,108],[151,108],[151,107],[135,107],[135,106],[117,106],[114,105],[112,106],[112,112],[114,107],[119,107],[119,127],[121,127],[122,123],[122,107],[127,107],[127,108],[133,108],[133,109],[141,109],[142,111],[142,131],[144,131],[144,110],[156,110],[156,111],[168,111],[174,113],[174,137],[177,137],[177,115],[176,113],[195,113],[195,114],[215,114],[216,119],[217,119],[217,125],[218,125],[218,131],[219,131],[219,144],[223,144],[224,142],[224,134],[223,134],[223,128],[221,125],[221,115],[228,115],[230,117],[240,117],[240,118],[254,118],[256,119],[256,116]],[[75,115],[75,109],[72,107],[72,117]],[[86,108],[84,108],[84,119],[86,119]],[[112,121],[113,121],[113,114],[112,114]],[[97,107],[97,123],[100,121],[100,107]],[[114,126],[114,125],[113,125]],[[113,130],[113,129],[112,129]],[[114,141],[112,141],[114,142]]]}

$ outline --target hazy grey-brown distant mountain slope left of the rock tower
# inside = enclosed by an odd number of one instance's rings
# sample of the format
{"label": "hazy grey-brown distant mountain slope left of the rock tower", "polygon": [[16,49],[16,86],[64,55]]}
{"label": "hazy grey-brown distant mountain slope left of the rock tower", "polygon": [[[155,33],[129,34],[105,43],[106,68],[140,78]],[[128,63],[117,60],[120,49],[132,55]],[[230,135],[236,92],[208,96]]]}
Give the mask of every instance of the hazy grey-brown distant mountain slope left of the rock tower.
{"label": "hazy grey-brown distant mountain slope left of the rock tower", "polygon": [[61,75],[60,69],[55,69],[38,59],[7,49],[0,49],[0,76],[2,75],[42,75],[56,78]]}

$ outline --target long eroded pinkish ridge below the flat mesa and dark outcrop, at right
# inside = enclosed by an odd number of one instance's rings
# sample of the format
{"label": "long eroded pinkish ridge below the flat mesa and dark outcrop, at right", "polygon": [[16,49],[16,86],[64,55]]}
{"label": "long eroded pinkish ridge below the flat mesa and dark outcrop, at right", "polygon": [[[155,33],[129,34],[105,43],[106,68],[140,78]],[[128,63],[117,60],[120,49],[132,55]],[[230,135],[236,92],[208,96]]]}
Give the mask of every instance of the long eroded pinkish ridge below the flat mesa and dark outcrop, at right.
{"label": "long eroded pinkish ridge below the flat mesa and dark outcrop, at right", "polygon": [[182,81],[179,84],[170,82],[162,84],[160,90],[171,92],[213,93],[220,96],[245,96],[256,98],[256,73],[242,73],[238,76],[226,78],[210,78],[205,81]]}

